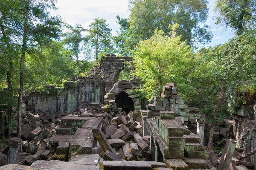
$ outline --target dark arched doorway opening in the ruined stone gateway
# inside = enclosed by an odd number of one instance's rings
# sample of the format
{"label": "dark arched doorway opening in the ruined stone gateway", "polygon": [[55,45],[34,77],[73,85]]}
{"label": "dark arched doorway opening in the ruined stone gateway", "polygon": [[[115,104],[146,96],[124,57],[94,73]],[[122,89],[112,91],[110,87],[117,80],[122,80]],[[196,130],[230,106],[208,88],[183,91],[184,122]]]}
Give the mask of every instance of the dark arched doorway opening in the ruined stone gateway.
{"label": "dark arched doorway opening in the ruined stone gateway", "polygon": [[130,97],[128,97],[128,94],[124,91],[121,91],[116,96],[116,107],[122,108],[122,111],[130,112],[134,111],[134,103]]}

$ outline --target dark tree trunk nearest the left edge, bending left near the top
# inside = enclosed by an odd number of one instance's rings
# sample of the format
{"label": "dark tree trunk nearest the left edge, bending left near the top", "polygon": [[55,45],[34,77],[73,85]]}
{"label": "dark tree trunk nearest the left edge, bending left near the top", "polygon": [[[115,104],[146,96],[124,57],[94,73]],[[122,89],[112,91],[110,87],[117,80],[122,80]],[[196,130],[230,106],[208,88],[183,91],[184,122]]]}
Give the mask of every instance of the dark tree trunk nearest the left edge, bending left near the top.
{"label": "dark tree trunk nearest the left edge, bending left near the top", "polygon": [[[2,36],[3,36],[3,40],[4,42],[6,43],[6,47],[11,50],[11,46],[10,46],[10,43],[9,43],[9,39],[8,37],[6,36],[6,32],[5,32],[5,29],[4,29],[4,26],[3,26],[3,23],[2,23],[2,20],[4,19],[5,17],[2,16],[0,18],[0,29],[2,31]],[[10,54],[10,53],[8,53]],[[9,58],[9,67],[8,69],[6,70],[6,75],[7,75],[7,86],[8,86],[8,93],[6,96],[7,98],[7,116],[8,116],[8,126],[7,126],[7,138],[9,138],[10,134],[11,134],[11,129],[12,129],[12,105],[13,105],[13,91],[12,91],[12,71],[13,71],[13,61],[12,61],[12,54],[11,55],[8,55],[6,56],[7,58]]]}

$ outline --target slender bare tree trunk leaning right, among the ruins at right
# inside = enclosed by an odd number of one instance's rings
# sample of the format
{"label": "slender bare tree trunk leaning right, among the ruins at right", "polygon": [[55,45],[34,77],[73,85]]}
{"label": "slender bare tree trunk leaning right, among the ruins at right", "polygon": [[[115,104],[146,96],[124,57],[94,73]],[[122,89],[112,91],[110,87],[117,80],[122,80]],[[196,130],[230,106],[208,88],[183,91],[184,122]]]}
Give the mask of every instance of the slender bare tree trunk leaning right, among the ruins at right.
{"label": "slender bare tree trunk leaning right, among the ruins at right", "polygon": [[[216,115],[218,113],[218,107],[221,103],[221,99],[223,97],[224,90],[225,90],[225,85],[222,85],[220,94],[219,94],[218,99],[215,104],[215,108],[213,110],[213,119],[216,119]],[[214,129],[215,129],[215,122],[212,122],[212,127],[210,130],[210,136],[209,136],[209,141],[208,141],[208,150],[212,150],[212,139],[213,139]]]}

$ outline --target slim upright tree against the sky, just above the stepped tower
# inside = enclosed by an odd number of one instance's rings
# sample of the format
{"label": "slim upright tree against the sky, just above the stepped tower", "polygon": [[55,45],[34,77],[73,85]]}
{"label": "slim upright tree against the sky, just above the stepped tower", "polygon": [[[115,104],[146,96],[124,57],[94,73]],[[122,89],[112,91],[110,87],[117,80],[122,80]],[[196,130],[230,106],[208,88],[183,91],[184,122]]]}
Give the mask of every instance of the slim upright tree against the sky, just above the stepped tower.
{"label": "slim upright tree against the sky, just above the stepped tower", "polygon": [[111,52],[112,47],[112,34],[111,29],[108,28],[106,20],[102,18],[95,18],[93,23],[88,26],[89,35],[87,36],[87,51],[95,50],[96,60],[100,52]]}

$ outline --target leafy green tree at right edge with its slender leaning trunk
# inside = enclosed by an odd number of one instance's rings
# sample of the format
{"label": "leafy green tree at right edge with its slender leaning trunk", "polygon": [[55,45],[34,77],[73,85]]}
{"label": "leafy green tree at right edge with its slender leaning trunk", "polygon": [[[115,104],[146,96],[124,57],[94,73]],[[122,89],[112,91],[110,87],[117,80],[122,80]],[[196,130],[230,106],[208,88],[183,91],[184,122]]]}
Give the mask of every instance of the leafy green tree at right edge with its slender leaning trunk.
{"label": "leafy green tree at right edge with its slender leaning trunk", "polygon": [[[212,127],[209,136],[208,149],[212,149],[212,136],[215,123],[218,123],[218,107],[223,99],[223,94],[229,94],[230,105],[236,107],[243,103],[244,94],[248,90],[254,91],[256,71],[254,65],[256,61],[256,39],[253,34],[242,34],[235,36],[223,45],[216,46],[212,51],[212,62],[214,62],[212,72],[216,76],[216,81],[221,86],[219,97],[215,102],[212,111]],[[232,96],[232,98],[230,97]]]}

